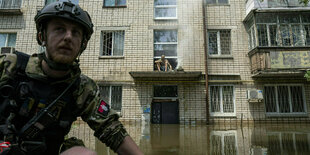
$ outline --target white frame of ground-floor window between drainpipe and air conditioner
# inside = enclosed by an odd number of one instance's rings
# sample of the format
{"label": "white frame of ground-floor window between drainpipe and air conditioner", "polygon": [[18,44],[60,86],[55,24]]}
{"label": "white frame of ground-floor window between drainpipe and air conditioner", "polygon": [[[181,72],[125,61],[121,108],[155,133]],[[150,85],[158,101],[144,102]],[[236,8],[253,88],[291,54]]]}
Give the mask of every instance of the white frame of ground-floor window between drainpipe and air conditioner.
{"label": "white frame of ground-floor window between drainpipe and air conditioner", "polygon": [[[216,86],[216,87],[220,87],[220,112],[212,112],[212,101],[211,101],[211,86]],[[227,113],[227,112],[223,112],[223,87],[224,86],[231,86],[232,90],[233,90],[233,113]],[[220,116],[220,117],[235,117],[236,116],[236,92],[235,92],[235,85],[233,84],[223,84],[223,85],[209,85],[209,112],[210,112],[210,116],[216,117],[216,116]]]}

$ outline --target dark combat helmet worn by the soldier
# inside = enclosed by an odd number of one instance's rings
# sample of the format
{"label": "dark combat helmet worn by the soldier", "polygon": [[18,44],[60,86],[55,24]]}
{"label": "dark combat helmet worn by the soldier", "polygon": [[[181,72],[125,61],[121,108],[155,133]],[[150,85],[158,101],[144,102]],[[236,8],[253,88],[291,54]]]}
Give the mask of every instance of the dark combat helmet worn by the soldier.
{"label": "dark combat helmet worn by the soldier", "polygon": [[[37,33],[42,31],[42,26],[44,22],[46,22],[47,19],[53,17],[69,19],[83,26],[85,34],[81,50],[85,50],[87,41],[90,39],[93,33],[93,23],[89,14],[83,9],[81,9],[79,5],[73,4],[70,0],[50,3],[44,6],[41,10],[39,10],[37,15],[34,17]],[[42,45],[42,42],[39,40],[38,35],[37,41],[39,45]]]}

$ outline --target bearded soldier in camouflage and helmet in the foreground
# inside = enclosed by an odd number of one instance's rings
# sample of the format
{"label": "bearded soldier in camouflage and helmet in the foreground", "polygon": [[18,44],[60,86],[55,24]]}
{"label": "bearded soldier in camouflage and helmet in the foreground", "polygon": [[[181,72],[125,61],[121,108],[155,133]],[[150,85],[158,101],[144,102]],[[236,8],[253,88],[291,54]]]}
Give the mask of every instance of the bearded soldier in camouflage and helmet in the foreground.
{"label": "bearded soldier in camouflage and helmet in the foreground", "polygon": [[[78,60],[93,33],[88,13],[70,1],[54,2],[35,23],[45,52],[0,56],[0,154],[59,154],[79,116],[118,154],[143,154],[96,83],[81,74]],[[63,153],[95,154],[81,146]]]}

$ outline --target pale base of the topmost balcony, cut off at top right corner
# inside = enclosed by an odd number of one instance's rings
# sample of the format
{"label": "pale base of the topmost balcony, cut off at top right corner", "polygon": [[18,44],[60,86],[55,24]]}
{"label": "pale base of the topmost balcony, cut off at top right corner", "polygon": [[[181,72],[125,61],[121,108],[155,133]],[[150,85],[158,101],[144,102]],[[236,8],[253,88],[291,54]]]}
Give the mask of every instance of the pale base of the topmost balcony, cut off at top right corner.
{"label": "pale base of the topmost balcony, cut off at top right corner", "polygon": [[248,15],[252,10],[309,10],[310,3],[308,4],[308,6],[304,6],[304,4],[299,3],[299,0],[247,0],[245,7],[246,15]]}

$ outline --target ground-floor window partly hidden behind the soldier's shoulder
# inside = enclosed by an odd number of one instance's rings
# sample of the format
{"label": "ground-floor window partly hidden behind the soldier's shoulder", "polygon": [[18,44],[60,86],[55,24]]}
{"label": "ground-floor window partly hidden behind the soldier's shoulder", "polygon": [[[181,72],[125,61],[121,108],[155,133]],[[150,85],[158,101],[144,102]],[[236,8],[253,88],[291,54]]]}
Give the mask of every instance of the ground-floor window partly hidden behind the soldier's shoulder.
{"label": "ground-floor window partly hidden behind the soldier's shoulder", "polygon": [[118,112],[122,110],[122,86],[101,86],[100,95],[112,109]]}

